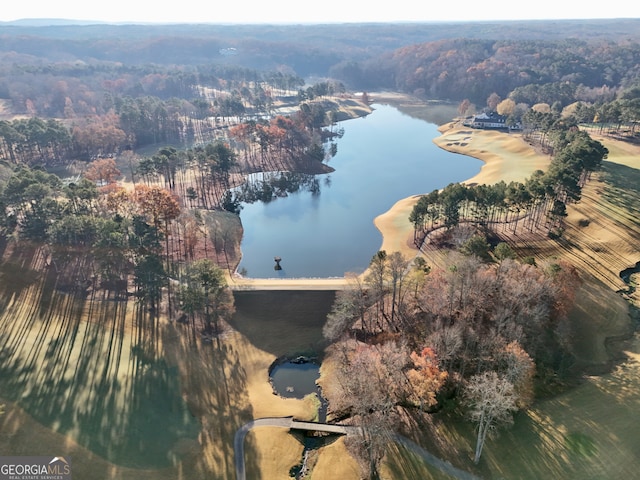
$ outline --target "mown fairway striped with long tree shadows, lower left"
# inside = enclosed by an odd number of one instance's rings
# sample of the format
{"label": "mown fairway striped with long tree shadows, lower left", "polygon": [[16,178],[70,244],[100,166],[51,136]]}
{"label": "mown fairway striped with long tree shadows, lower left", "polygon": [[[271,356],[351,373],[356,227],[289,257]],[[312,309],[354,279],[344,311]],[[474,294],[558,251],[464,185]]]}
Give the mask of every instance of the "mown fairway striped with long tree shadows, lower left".
{"label": "mown fairway striped with long tree shadows, lower left", "polygon": [[59,292],[46,281],[11,295],[0,314],[3,396],[117,465],[170,467],[185,442],[197,445],[201,425],[178,367],[161,343],[134,340],[133,326],[149,324],[144,313],[132,319],[129,302]]}

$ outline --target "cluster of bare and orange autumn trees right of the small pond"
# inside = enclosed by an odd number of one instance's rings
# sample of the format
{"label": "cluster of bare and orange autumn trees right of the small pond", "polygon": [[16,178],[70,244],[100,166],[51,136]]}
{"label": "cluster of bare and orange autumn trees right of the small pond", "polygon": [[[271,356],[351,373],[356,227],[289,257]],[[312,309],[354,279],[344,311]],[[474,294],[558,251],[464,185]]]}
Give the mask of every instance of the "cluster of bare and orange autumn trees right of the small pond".
{"label": "cluster of bare and orange autumn trees right of the small pond", "polygon": [[323,385],[334,418],[367,432],[348,442],[368,478],[411,412],[447,409],[487,433],[571,368],[567,313],[580,280],[565,263],[530,265],[496,248],[451,253],[446,267],[380,251],[363,279],[337,293],[323,333]]}

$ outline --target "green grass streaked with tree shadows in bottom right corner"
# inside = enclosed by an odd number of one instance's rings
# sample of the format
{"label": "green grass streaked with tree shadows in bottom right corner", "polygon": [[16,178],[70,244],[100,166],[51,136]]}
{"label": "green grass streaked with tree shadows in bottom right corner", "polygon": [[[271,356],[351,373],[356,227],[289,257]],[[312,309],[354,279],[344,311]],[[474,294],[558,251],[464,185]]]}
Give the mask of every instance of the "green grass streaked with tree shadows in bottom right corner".
{"label": "green grass streaked with tree shadows in bottom right corner", "polygon": [[518,414],[512,429],[487,442],[486,478],[637,476],[639,370],[637,362],[625,363]]}

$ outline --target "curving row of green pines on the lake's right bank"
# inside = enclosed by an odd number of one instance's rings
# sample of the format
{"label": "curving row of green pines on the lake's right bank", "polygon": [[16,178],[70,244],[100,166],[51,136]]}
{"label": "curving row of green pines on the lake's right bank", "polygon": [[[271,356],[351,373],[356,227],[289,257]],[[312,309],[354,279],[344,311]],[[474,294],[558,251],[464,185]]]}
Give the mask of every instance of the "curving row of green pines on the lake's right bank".
{"label": "curving row of green pines on the lake's right bank", "polygon": [[524,182],[450,184],[420,196],[409,216],[415,244],[420,247],[434,230],[449,230],[462,222],[514,234],[546,228],[560,235],[567,203],[580,200],[582,187],[608,151],[575,127],[556,125],[549,135],[554,155],[546,172],[538,170]]}

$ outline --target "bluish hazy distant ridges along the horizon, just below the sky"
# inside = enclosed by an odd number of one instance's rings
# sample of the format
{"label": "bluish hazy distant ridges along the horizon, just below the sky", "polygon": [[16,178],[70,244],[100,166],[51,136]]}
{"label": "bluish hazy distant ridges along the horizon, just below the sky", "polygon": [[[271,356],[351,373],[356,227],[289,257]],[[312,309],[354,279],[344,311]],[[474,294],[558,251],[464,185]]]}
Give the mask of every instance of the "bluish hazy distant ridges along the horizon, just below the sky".
{"label": "bluish hazy distant ridges along the horizon, just below the sky", "polygon": [[201,65],[219,61],[220,48],[233,47],[239,55],[227,58],[227,63],[260,69],[289,67],[307,76],[326,75],[339,62],[360,62],[398,48],[455,38],[638,41],[640,19],[318,25],[20,20],[0,24],[0,56],[11,52],[54,62]]}

